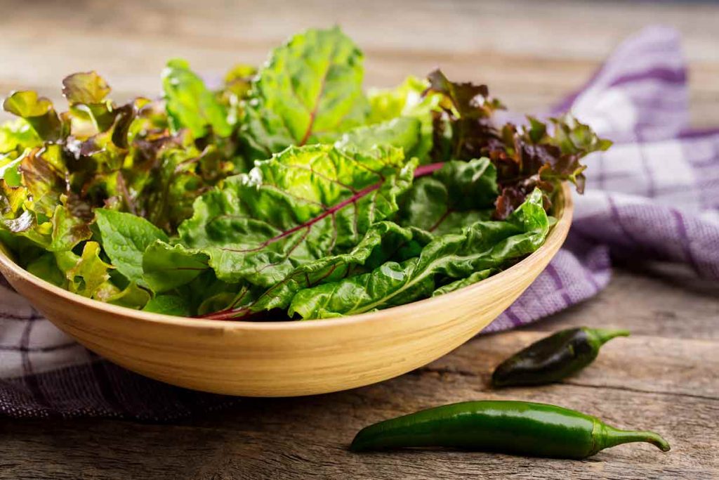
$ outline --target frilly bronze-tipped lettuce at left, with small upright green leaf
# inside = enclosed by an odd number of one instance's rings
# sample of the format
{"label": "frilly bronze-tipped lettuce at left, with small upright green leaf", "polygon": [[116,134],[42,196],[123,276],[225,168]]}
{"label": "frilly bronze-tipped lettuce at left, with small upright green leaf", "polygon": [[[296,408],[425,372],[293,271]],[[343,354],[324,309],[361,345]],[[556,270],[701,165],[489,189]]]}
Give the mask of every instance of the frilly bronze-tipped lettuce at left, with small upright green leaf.
{"label": "frilly bronze-tipped lettuce at left, with small upright green leaf", "polygon": [[[62,114],[33,91],[9,96],[4,108],[22,118],[0,128],[0,227],[60,251],[87,240],[83,224],[93,209],[105,207],[146,217],[171,233],[191,216],[197,196],[242,170],[235,140],[218,136],[234,132],[217,114],[225,108],[217,97],[229,84],[208,91],[181,62],[170,63],[166,73],[169,111],[209,125],[215,135],[197,139],[189,127],[170,132],[172,119],[160,102],[115,104],[93,71],[63,80],[69,109]],[[61,204],[65,209],[55,218]]]}

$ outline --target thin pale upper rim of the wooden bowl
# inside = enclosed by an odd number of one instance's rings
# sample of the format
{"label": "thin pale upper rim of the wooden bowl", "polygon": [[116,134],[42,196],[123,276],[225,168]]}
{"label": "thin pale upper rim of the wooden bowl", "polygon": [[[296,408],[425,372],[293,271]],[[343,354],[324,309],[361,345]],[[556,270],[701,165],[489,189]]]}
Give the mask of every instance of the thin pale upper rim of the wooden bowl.
{"label": "thin pale upper rim of the wooden bowl", "polygon": [[[316,320],[273,320],[273,321],[262,321],[262,322],[247,322],[243,320],[209,320],[199,319],[193,317],[178,317],[175,315],[159,314],[152,312],[143,312],[142,310],[131,309],[129,307],[120,307],[119,305],[108,304],[100,302],[99,300],[88,299],[85,296],[74,294],[71,291],[61,289],[59,286],[50,284],[50,282],[40,279],[29,273],[17,263],[15,263],[7,253],[6,248],[0,243],[0,266],[2,270],[10,271],[20,279],[27,281],[37,289],[48,291],[55,296],[59,296],[67,302],[73,304],[80,304],[83,307],[96,309],[108,314],[114,314],[118,317],[122,317],[125,320],[135,322],[151,322],[160,325],[174,325],[175,327],[201,327],[203,330],[216,329],[216,330],[302,330],[302,329],[322,329],[324,327],[341,327],[342,325],[356,325],[364,322],[372,322],[372,320],[387,321],[388,314],[395,314],[401,316],[405,313],[411,313],[411,310],[423,305],[429,304],[429,302],[454,302],[455,299],[459,299],[465,295],[476,295],[480,294],[485,289],[492,289],[495,284],[500,284],[504,281],[505,276],[512,275],[513,271],[523,268],[525,263],[529,263],[533,258],[544,255],[547,251],[553,248],[554,243],[564,243],[564,238],[569,232],[569,227],[572,224],[572,216],[574,214],[574,202],[572,201],[572,191],[569,188],[569,184],[566,182],[562,185],[562,191],[557,192],[557,199],[563,199],[564,201],[557,201],[556,212],[557,223],[552,227],[549,235],[547,235],[544,245],[538,248],[535,252],[523,258],[515,265],[507,268],[500,273],[490,276],[488,279],[477,282],[469,286],[465,286],[457,291],[450,292],[441,296],[431,297],[429,299],[422,299],[416,302],[411,302],[397,307],[390,307],[388,309],[378,310],[377,312],[369,312],[364,314],[349,315],[347,317],[336,317]],[[557,248],[559,250],[559,248]]]}

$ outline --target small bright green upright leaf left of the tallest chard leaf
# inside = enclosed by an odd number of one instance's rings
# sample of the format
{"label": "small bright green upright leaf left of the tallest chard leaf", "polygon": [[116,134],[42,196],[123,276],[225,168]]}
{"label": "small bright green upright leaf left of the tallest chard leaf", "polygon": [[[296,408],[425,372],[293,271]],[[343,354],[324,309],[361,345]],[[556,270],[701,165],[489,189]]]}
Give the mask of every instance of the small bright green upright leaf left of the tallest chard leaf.
{"label": "small bright green upright leaf left of the tallest chard leaf", "polygon": [[175,132],[187,128],[196,138],[204,137],[209,127],[221,137],[232,133],[226,109],[185,60],[168,62],[162,71],[162,90],[170,127]]}

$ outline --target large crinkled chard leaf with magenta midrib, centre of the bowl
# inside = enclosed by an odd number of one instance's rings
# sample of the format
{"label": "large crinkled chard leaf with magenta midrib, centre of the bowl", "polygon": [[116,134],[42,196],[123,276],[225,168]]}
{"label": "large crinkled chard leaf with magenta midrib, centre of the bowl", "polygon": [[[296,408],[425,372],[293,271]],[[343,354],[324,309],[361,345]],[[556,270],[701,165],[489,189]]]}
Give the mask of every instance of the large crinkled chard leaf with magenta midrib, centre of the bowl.
{"label": "large crinkled chard leaf with magenta midrib, centre of the bowl", "polygon": [[414,167],[397,148],[291,147],[198,199],[180,240],[209,255],[220,280],[270,287],[303,263],[352,250],[397,211]]}

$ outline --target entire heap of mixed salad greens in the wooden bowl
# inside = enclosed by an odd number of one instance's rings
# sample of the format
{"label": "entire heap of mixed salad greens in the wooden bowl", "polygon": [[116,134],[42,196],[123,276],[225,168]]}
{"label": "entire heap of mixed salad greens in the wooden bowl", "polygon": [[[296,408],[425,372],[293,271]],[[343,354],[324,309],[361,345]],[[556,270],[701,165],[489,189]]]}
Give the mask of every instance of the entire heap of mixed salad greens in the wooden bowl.
{"label": "entire heap of mixed salad greens in the wooden bowl", "polygon": [[446,294],[539,248],[562,181],[610,142],[569,116],[497,124],[487,86],[441,71],[362,89],[338,28],[209,89],[184,60],[161,99],[95,72],[3,107],[0,240],[88,298],[216,319],[311,319]]}

